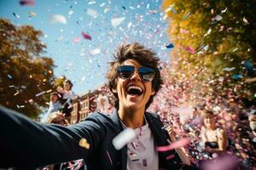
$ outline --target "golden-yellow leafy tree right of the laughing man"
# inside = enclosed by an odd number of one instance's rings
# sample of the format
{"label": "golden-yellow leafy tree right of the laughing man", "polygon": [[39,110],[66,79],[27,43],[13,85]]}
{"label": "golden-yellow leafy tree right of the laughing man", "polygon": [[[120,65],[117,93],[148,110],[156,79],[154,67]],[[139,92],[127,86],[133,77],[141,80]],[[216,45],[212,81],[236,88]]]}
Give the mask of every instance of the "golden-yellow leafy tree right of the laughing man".
{"label": "golden-yellow leafy tree right of the laughing man", "polygon": [[165,0],[162,8],[175,45],[170,77],[192,84],[191,96],[255,101],[256,2]]}

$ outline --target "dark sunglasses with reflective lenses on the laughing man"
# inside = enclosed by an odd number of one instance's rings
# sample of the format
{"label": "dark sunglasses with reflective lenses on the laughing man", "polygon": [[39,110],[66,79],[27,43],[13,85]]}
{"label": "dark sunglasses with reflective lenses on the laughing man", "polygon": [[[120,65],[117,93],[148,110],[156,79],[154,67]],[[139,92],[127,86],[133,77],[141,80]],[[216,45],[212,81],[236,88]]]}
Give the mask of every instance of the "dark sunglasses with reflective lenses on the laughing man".
{"label": "dark sunglasses with reflective lenses on the laughing man", "polygon": [[[117,69],[118,75],[122,79],[130,78],[134,72],[135,67],[132,65],[121,65]],[[142,78],[143,82],[151,82],[154,80],[154,70],[149,67],[140,67],[137,72],[139,73],[140,77]]]}

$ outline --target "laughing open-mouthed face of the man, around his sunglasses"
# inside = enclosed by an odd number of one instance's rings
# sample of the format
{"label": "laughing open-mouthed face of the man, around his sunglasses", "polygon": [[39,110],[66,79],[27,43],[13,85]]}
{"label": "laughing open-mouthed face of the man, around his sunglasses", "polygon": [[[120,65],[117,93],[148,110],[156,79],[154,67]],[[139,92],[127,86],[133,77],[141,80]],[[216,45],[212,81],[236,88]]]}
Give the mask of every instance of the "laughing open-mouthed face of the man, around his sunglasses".
{"label": "laughing open-mouthed face of the man, around his sunglasses", "polygon": [[117,77],[117,88],[113,89],[114,93],[119,97],[119,109],[145,108],[148,99],[154,95],[152,82],[143,82],[137,70],[142,67],[134,59],[127,59],[123,65],[132,65],[135,67],[135,72],[130,78],[122,79]]}

